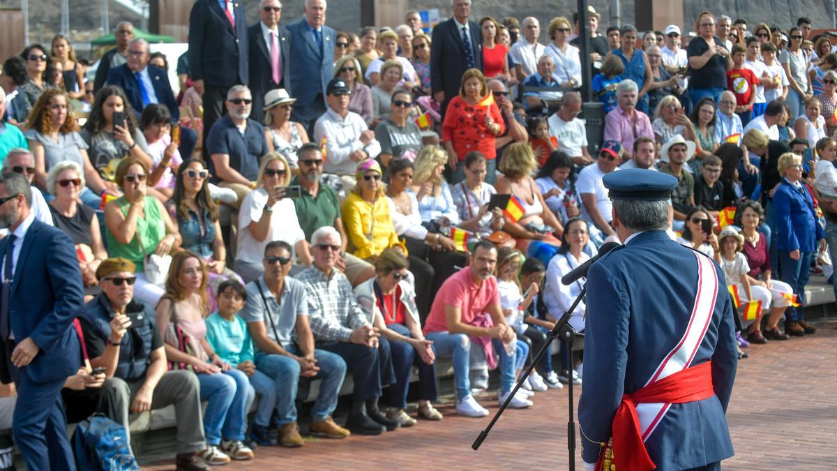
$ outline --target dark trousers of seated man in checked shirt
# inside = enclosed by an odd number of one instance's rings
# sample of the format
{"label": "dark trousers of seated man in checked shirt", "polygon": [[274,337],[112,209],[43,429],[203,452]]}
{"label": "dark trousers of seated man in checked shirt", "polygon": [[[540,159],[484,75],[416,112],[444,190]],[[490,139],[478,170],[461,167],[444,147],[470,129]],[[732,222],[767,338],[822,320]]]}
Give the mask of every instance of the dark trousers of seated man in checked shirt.
{"label": "dark trousers of seated man in checked shirt", "polygon": [[377,399],[381,396],[381,386],[395,382],[389,342],[383,337],[379,340],[377,349],[349,342],[317,344],[318,349],[330,351],[346,360],[348,370],[352,370],[352,379],[355,383],[352,394],[354,401]]}

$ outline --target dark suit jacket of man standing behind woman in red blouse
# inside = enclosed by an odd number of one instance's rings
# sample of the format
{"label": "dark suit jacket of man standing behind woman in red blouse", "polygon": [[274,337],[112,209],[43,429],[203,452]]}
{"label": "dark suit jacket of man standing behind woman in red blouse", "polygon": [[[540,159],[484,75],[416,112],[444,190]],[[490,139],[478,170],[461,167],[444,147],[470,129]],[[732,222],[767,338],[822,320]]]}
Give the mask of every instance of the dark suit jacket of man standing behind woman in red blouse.
{"label": "dark suit jacket of man standing behind woman in red blouse", "polygon": [[[468,22],[471,47],[474,48],[474,67],[482,70],[482,30],[473,21]],[[462,74],[465,74],[465,44],[454,18],[433,28],[430,46],[430,87],[433,92],[444,91],[444,108],[460,93]]]}

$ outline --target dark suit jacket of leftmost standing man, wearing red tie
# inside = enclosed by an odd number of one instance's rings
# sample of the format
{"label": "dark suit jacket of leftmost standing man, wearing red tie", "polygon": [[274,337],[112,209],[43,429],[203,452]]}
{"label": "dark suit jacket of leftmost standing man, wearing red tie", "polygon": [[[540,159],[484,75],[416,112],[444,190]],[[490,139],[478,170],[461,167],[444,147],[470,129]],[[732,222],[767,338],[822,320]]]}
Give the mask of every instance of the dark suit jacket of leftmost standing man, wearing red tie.
{"label": "dark suit jacket of leftmost standing man, wearing red tie", "polygon": [[189,14],[189,68],[192,80],[229,88],[249,83],[247,15],[234,0],[235,28],[217,0],[198,0]]}

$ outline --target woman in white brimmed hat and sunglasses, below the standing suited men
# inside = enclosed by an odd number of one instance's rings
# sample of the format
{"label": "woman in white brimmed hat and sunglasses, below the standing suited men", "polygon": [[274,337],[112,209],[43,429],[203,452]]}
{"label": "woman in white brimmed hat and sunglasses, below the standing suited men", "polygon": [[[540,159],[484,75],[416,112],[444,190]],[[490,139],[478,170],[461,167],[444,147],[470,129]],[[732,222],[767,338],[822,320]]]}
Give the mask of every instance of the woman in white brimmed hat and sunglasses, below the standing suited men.
{"label": "woman in white brimmed hat and sunglasses, below the standing suited men", "polygon": [[299,122],[290,121],[290,111],[296,99],[284,88],[264,95],[264,141],[269,152],[279,152],[288,159],[291,168],[299,168],[296,151],[309,142],[308,132]]}

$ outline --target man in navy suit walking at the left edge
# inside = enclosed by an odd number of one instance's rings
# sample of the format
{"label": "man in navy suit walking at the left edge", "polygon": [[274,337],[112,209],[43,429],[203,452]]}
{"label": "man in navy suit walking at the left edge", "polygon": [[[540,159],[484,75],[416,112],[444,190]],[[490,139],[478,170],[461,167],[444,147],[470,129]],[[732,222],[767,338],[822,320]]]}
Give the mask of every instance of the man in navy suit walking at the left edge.
{"label": "man in navy suit walking at the left edge", "polygon": [[18,389],[12,433],[29,469],[75,469],[61,403],[64,380],[81,364],[72,327],[84,291],[73,241],[35,219],[18,173],[0,176],[0,380]]}

